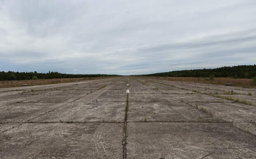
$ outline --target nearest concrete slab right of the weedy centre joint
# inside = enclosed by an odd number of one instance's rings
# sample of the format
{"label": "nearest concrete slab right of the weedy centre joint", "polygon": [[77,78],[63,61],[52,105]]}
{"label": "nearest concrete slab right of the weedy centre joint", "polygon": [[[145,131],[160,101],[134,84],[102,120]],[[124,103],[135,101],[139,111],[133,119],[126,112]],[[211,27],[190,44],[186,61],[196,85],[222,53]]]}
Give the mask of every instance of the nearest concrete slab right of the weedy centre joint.
{"label": "nearest concrete slab right of the weedy centre joint", "polygon": [[256,138],[227,123],[128,123],[128,159],[256,158]]}

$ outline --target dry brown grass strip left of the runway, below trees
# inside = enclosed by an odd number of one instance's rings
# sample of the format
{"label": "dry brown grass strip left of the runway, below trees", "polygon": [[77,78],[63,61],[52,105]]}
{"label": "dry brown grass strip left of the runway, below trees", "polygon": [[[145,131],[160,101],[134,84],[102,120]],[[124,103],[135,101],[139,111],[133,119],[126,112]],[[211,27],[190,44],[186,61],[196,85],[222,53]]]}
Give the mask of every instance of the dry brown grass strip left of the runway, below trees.
{"label": "dry brown grass strip left of the runway, below trees", "polygon": [[102,79],[102,78],[111,78],[111,77],[55,78],[55,79],[38,79],[38,80],[21,80],[21,81],[0,81],[0,88],[19,87],[24,84],[47,85],[47,84],[56,84],[56,83],[78,82],[78,81],[95,80],[95,79]]}

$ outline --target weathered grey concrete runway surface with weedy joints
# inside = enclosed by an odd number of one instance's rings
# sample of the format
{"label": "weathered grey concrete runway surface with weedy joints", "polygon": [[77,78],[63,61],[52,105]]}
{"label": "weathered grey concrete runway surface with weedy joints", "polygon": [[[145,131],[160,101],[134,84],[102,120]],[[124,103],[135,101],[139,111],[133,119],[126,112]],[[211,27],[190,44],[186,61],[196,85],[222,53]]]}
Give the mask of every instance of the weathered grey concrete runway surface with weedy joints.
{"label": "weathered grey concrete runway surface with weedy joints", "polygon": [[0,88],[0,158],[256,158],[256,89],[140,76]]}

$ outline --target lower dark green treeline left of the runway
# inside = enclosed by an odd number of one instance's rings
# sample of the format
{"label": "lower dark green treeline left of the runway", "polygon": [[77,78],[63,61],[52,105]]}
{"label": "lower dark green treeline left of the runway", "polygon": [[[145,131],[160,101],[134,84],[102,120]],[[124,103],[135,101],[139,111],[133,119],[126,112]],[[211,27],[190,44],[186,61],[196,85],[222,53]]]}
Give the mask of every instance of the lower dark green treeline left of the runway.
{"label": "lower dark green treeline left of the runway", "polygon": [[6,80],[30,80],[30,79],[53,79],[53,78],[85,78],[85,77],[109,77],[119,75],[109,74],[61,74],[59,72],[49,71],[48,73],[34,72],[14,72],[14,71],[1,71],[0,81]]}

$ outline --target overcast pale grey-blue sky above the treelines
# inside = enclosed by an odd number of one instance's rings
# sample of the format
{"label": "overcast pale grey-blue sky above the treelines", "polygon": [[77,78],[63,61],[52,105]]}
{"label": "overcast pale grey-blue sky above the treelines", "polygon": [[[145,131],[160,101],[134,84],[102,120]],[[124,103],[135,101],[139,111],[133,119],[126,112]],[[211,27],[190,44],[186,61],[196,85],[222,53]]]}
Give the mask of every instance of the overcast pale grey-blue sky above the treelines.
{"label": "overcast pale grey-blue sky above the treelines", "polygon": [[0,71],[149,74],[256,63],[256,0],[0,0]]}

